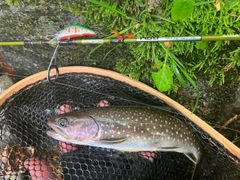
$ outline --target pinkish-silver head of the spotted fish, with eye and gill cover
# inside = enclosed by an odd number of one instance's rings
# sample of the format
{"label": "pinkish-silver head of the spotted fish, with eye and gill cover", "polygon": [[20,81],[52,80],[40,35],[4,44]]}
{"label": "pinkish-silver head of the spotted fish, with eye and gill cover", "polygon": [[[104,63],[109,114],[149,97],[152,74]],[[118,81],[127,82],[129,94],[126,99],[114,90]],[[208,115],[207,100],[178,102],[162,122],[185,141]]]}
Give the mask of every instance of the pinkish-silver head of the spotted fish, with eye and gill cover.
{"label": "pinkish-silver head of the spotted fish, with eye and gill cover", "polygon": [[67,113],[53,117],[48,121],[53,129],[47,134],[60,141],[69,140],[94,140],[99,132],[98,123],[88,115]]}

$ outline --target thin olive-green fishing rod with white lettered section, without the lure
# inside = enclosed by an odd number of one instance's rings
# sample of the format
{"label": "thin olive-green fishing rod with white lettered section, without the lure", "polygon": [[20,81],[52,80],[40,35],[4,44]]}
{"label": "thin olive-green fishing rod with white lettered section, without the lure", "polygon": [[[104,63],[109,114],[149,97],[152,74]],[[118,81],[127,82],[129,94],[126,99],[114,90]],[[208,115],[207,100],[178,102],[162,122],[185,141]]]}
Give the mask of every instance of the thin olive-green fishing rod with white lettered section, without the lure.
{"label": "thin olive-green fishing rod with white lettered section, without the lure", "polygon": [[214,35],[214,36],[180,36],[180,37],[159,37],[159,38],[111,38],[111,39],[68,39],[49,41],[13,41],[0,42],[0,46],[35,46],[35,45],[80,45],[80,44],[110,44],[110,43],[136,43],[136,42],[181,42],[181,41],[237,41],[240,35]]}

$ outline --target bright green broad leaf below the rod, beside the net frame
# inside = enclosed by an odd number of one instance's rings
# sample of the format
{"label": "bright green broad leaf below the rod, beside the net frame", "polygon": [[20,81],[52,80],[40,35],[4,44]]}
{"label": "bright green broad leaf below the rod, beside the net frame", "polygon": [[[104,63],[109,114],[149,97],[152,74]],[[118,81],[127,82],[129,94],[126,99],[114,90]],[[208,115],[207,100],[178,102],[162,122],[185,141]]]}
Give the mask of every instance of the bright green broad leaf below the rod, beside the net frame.
{"label": "bright green broad leaf below the rod, beside the net frame", "polygon": [[173,84],[173,73],[165,64],[158,72],[152,72],[152,79],[160,92],[168,91]]}

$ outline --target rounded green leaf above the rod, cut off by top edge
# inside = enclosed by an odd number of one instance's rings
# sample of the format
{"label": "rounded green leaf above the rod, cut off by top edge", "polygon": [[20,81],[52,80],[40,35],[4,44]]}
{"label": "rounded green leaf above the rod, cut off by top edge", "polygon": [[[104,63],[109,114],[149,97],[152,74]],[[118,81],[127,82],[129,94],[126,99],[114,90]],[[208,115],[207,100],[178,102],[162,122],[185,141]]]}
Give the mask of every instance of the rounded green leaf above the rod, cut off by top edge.
{"label": "rounded green leaf above the rod, cut off by top edge", "polygon": [[182,21],[189,18],[194,9],[193,0],[176,0],[171,9],[172,18]]}

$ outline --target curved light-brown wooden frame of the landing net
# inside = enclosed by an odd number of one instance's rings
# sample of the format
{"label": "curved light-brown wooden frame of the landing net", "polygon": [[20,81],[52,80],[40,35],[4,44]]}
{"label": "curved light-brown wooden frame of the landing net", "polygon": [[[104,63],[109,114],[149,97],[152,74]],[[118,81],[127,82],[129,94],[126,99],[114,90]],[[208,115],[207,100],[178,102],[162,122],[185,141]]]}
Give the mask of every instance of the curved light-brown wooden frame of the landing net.
{"label": "curved light-brown wooden frame of the landing net", "polygon": [[[201,120],[199,117],[194,115],[192,112],[184,108],[182,105],[178,104],[171,98],[167,97],[166,95],[158,92],[157,90],[133,79],[128,78],[127,76],[121,75],[119,73],[93,68],[93,67],[84,67],[84,66],[72,66],[72,67],[62,67],[59,68],[60,74],[65,73],[90,73],[99,76],[109,77],[111,79],[115,79],[117,81],[121,81],[123,83],[127,83],[132,87],[138,88],[148,94],[151,94],[166,104],[168,104],[171,108],[178,111],[180,113],[179,116],[185,116],[190,122],[191,126],[195,129],[199,129],[198,131],[204,131],[208,137],[202,137],[203,139],[212,139],[213,144],[219,144],[223,147],[223,151],[228,152],[227,156],[236,164],[239,164],[240,159],[240,150],[230,141],[228,141],[225,137],[223,137],[220,133],[214,130],[211,126]],[[51,72],[50,76],[55,76],[55,72]],[[42,81],[46,77],[46,71],[37,73],[32,75],[22,81],[19,81],[8,90],[6,90],[3,94],[0,95],[0,106],[6,101],[7,98],[11,97],[13,93],[20,91],[22,88],[26,88],[30,84],[36,83],[38,81]],[[41,82],[40,82],[41,83]],[[239,169],[238,169],[239,170]],[[239,172],[236,172],[236,177],[239,177]],[[216,177],[214,179],[217,179]],[[223,179],[228,179],[227,176]]]}

